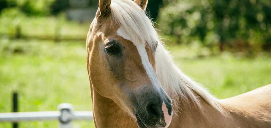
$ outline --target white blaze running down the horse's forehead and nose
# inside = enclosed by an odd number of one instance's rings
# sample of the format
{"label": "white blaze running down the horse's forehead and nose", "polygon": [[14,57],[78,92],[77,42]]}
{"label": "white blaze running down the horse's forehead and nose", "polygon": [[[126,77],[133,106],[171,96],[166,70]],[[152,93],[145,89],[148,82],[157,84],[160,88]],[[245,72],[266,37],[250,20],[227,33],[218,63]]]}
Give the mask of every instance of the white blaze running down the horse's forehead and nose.
{"label": "white blaze running down the horse's forehead and nose", "polygon": [[154,72],[154,69],[149,61],[148,53],[145,49],[146,44],[145,43],[135,43],[132,40],[132,37],[130,35],[128,35],[128,33],[124,30],[123,27],[120,27],[117,30],[117,35],[123,37],[126,40],[130,40],[131,42],[133,42],[133,44],[138,49],[138,53],[142,59],[142,64],[143,64],[152,84],[158,89],[158,91],[160,91],[161,84],[160,84],[158,77],[157,77],[156,73]]}

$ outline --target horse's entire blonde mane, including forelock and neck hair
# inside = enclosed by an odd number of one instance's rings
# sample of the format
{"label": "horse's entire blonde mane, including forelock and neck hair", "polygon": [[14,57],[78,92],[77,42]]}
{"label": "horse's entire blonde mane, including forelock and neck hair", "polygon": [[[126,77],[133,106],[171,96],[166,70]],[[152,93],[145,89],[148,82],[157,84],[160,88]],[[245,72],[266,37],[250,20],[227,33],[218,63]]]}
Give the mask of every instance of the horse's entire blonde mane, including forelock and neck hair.
{"label": "horse's entire blonde mane, including forelock and neck hair", "polygon": [[[133,43],[148,43],[156,49],[156,73],[162,87],[170,97],[181,96],[185,101],[191,99],[201,107],[194,92],[198,93],[211,106],[220,110],[217,99],[206,88],[186,76],[174,64],[172,56],[164,48],[153,22],[145,12],[131,0],[112,0],[111,18],[127,31]],[[193,92],[194,91],[194,92]]]}

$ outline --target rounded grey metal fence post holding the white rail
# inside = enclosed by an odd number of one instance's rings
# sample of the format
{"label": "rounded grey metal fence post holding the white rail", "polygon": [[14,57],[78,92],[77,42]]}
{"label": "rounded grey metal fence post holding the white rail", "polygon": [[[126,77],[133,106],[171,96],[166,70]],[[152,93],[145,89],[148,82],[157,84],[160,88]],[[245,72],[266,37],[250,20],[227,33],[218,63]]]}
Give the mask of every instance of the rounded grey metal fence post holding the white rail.
{"label": "rounded grey metal fence post holding the white rail", "polygon": [[72,116],[73,116],[73,105],[69,103],[62,103],[57,106],[61,112],[59,116],[60,128],[72,128]]}

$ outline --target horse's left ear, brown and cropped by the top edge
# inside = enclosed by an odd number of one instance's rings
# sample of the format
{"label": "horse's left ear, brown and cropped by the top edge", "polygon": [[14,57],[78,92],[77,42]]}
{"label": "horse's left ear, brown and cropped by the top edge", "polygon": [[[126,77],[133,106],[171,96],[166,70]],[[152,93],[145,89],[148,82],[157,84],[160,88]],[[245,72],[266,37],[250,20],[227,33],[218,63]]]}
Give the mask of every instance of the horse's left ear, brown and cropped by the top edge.
{"label": "horse's left ear, brown and cropped by the top edge", "polygon": [[107,16],[111,9],[110,9],[111,0],[99,0],[99,11],[101,17]]}

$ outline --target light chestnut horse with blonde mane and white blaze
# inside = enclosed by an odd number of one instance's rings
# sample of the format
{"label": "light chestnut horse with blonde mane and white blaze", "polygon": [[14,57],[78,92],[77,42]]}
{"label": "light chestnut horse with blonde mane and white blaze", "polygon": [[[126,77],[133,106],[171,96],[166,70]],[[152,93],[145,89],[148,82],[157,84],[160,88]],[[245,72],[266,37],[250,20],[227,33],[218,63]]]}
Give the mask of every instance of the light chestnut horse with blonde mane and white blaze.
{"label": "light chestnut horse with blonde mane and white blaze", "polygon": [[147,0],[99,0],[87,34],[96,127],[271,127],[271,84],[218,100],[180,71]]}

